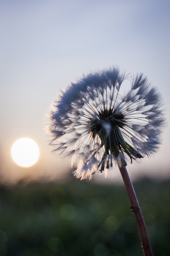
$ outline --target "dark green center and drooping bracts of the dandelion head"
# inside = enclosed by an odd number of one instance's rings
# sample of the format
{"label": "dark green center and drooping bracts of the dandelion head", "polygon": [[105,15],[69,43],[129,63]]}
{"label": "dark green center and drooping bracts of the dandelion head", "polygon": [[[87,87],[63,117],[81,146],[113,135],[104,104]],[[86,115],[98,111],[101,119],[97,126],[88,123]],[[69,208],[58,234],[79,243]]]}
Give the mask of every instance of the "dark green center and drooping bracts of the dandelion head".
{"label": "dark green center and drooping bracts of the dandelion head", "polygon": [[[124,140],[121,133],[121,128],[124,129],[126,126],[126,120],[118,109],[105,108],[104,110],[100,110],[98,115],[91,118],[88,124],[92,139],[96,138],[98,141],[99,137],[100,147],[104,147],[104,154],[99,164],[99,166],[101,165],[101,172],[103,172],[105,161],[109,156],[118,157],[120,152],[125,152],[130,157],[131,162],[133,157],[142,157],[140,153],[138,153]],[[109,168],[109,158],[107,162],[107,168]]]}

